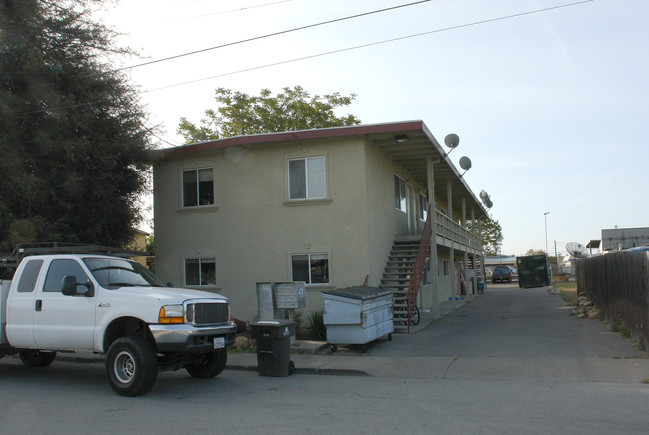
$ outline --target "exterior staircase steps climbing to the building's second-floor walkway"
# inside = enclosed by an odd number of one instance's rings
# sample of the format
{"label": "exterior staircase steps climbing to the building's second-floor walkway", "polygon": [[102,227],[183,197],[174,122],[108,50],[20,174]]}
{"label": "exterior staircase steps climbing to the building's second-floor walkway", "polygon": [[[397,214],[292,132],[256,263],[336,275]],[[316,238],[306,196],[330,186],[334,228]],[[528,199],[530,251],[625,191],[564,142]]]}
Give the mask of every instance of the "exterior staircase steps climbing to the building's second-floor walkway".
{"label": "exterior staircase steps climbing to the building's second-floor walkway", "polygon": [[383,272],[380,288],[393,295],[393,322],[395,332],[408,332],[408,287],[417,260],[420,238],[397,238]]}

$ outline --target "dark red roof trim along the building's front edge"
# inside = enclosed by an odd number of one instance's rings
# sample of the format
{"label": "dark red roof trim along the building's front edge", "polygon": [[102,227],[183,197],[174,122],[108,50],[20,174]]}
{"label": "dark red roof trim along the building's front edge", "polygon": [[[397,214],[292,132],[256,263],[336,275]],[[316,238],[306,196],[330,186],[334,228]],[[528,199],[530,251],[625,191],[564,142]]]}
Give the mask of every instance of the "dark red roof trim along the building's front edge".
{"label": "dark red roof trim along the building's front edge", "polygon": [[235,136],[210,142],[201,142],[174,148],[165,148],[161,150],[161,152],[165,157],[171,157],[200,151],[229,148],[237,145],[258,145],[265,143],[290,142],[296,140],[360,136],[367,134],[401,133],[412,130],[423,130],[430,135],[423,121],[406,121],[389,124],[356,125],[351,127],[332,127],[314,130],[256,134],[250,136]]}

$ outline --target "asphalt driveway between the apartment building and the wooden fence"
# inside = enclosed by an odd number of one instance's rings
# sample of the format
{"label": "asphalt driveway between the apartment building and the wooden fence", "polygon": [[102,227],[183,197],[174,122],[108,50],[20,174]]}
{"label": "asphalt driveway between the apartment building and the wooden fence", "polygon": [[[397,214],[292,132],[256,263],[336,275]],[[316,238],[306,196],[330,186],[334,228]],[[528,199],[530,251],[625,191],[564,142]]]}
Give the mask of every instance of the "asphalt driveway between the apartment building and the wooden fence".
{"label": "asphalt driveway between the apartment building and the wooden fence", "polygon": [[373,356],[512,358],[646,357],[609,324],[570,316],[547,288],[490,285],[487,293],[409,337],[368,349]]}

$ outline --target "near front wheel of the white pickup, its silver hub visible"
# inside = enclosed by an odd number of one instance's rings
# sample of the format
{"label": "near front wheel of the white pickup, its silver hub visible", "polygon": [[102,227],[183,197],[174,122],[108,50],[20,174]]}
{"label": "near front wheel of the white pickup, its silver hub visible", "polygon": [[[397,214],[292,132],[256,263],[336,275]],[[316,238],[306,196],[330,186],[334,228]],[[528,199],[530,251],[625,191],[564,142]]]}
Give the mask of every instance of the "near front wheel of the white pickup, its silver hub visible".
{"label": "near front wheel of the white pickup, its silver hub visible", "polygon": [[158,378],[158,358],[153,346],[139,337],[121,337],[106,354],[106,375],[120,396],[137,396],[153,387]]}

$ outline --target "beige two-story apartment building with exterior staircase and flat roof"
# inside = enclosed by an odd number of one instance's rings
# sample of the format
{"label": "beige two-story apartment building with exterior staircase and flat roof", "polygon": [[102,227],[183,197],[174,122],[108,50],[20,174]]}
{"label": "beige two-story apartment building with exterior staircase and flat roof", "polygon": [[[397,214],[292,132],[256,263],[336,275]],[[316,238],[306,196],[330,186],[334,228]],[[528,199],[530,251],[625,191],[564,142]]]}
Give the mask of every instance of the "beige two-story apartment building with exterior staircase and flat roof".
{"label": "beige two-story apartment building with exterior staircase and flat roof", "polygon": [[307,312],[322,307],[327,289],[407,290],[427,219],[435,267],[419,306],[455,297],[456,271],[482,255],[466,222],[486,212],[422,121],[232,137],[161,153],[156,272],[226,295],[242,320],[257,314],[258,282],[305,281]]}

